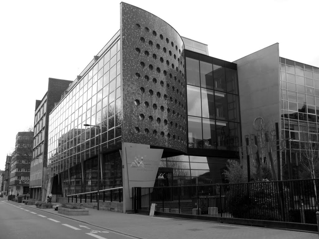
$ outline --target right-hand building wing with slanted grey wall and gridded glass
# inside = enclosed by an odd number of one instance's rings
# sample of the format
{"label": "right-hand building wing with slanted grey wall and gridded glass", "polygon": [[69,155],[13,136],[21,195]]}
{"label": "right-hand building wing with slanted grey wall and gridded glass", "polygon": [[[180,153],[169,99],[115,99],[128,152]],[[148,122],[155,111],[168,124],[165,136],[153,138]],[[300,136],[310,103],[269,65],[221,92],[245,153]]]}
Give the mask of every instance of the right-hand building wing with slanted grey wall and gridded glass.
{"label": "right-hand building wing with slanted grey wall and gridded glass", "polygon": [[[286,140],[289,150],[281,150],[279,159],[276,149],[273,149],[273,158],[279,162],[278,179],[298,178],[302,145],[309,139],[318,141],[319,68],[279,57],[278,43],[235,63],[239,79],[242,141],[249,138],[250,143],[254,143],[250,136],[256,134],[253,128],[256,117],[263,117],[269,132],[275,131],[274,124],[277,122],[279,140],[289,139]],[[247,168],[246,159],[242,162]]]}

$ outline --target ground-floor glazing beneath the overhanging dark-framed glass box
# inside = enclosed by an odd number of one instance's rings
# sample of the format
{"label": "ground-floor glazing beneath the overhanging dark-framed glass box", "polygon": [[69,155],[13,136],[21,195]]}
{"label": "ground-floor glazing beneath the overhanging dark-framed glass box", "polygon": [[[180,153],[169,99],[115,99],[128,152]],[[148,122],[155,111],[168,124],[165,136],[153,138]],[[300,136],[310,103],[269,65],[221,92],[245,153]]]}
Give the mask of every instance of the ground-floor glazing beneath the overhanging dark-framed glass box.
{"label": "ground-floor glazing beneath the overhanging dark-framed glass box", "polygon": [[159,167],[173,170],[173,186],[216,184],[225,183],[223,173],[227,160],[228,158],[181,155],[162,158]]}

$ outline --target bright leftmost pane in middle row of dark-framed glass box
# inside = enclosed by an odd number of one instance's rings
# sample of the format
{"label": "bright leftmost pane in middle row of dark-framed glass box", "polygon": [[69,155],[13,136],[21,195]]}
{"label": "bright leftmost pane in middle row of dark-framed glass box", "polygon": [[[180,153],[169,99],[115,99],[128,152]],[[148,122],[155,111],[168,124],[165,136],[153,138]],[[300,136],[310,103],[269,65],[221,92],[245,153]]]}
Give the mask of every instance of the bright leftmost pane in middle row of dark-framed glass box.
{"label": "bright leftmost pane in middle row of dark-framed glass box", "polygon": [[199,87],[187,86],[187,108],[189,115],[202,116]]}

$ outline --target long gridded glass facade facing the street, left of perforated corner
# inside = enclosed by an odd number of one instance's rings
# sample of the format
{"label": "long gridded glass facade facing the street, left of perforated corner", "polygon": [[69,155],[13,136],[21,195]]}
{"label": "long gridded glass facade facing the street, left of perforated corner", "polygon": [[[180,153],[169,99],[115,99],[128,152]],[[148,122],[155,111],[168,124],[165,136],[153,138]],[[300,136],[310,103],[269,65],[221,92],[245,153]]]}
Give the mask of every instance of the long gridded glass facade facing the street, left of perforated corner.
{"label": "long gridded glass facade facing the street, left of perforated corner", "polygon": [[97,155],[99,130],[84,124],[101,125],[102,150],[121,143],[120,56],[120,41],[116,40],[50,113],[50,177],[70,168],[70,178],[77,182],[79,172],[72,167]]}

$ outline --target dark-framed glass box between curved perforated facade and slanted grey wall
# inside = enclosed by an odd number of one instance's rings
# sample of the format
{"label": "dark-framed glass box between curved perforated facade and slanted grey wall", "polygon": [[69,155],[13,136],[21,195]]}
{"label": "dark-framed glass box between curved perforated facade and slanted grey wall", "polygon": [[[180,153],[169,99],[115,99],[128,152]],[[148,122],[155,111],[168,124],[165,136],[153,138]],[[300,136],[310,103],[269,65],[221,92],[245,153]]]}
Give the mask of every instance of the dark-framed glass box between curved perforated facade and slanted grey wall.
{"label": "dark-framed glass box between curved perforated facade and slanted grey wall", "polygon": [[241,131],[235,64],[187,53],[188,147],[237,150]]}

